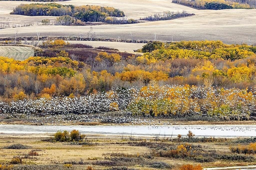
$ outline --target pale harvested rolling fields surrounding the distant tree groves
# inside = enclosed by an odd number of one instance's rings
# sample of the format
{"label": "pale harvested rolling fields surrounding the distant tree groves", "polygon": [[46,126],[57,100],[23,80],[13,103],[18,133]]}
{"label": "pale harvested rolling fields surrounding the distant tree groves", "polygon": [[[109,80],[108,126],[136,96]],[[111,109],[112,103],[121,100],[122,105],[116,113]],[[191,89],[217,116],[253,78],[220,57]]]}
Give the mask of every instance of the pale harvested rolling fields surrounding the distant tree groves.
{"label": "pale harvested rolling fields surrounding the distant tree groves", "polygon": [[[145,22],[129,25],[97,25],[92,26],[96,38],[180,41],[180,40],[222,40],[225,43],[255,44],[256,9],[226,9],[197,10],[167,0],[157,1],[87,1],[89,5],[113,6],[123,10],[128,18],[139,19],[166,10],[181,12],[186,10],[195,16],[167,21]],[[9,25],[23,26],[24,23],[33,26],[9,28],[1,30],[1,38],[13,37],[18,31],[19,37],[36,36],[72,36],[87,37],[91,26],[37,26],[42,19],[50,20],[56,17],[10,15],[9,12],[21,3],[31,2],[1,2],[1,20]],[[84,5],[81,0],[58,2],[61,4]]]}

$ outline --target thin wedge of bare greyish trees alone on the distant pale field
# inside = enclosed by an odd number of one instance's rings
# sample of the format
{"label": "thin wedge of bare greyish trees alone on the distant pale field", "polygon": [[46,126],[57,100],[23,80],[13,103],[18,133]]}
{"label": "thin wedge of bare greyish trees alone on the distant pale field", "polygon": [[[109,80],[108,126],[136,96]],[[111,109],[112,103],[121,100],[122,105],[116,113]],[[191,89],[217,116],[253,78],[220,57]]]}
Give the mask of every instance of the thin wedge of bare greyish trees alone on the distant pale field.
{"label": "thin wedge of bare greyish trees alone on the distant pale field", "polygon": [[161,14],[161,13],[154,14],[154,16],[148,16],[146,18],[141,18],[140,20],[161,21],[161,20],[170,20],[170,19],[192,16],[192,15],[195,15],[195,14],[189,14],[186,11],[183,11],[182,13],[176,13],[176,14],[174,14],[173,12],[170,12],[170,11],[164,11],[163,14]]}

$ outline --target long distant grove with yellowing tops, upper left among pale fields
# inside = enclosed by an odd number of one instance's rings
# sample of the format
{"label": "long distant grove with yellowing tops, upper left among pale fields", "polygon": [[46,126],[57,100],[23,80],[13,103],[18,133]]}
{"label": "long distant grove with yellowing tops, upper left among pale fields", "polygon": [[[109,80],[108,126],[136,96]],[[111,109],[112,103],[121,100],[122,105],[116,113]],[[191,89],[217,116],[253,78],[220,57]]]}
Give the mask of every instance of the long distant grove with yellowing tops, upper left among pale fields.
{"label": "long distant grove with yellowing tops, upper left among pale fields", "polygon": [[124,12],[113,7],[96,5],[61,5],[57,3],[47,4],[20,4],[10,14],[26,16],[63,16],[69,15],[83,22],[101,22],[106,17],[124,17]]}

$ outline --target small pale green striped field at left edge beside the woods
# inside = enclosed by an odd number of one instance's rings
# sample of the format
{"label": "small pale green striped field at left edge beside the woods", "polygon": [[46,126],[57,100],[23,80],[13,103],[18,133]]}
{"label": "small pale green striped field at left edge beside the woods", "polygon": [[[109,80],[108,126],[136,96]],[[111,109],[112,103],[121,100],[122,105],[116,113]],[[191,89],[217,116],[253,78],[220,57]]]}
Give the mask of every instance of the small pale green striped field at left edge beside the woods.
{"label": "small pale green striped field at left edge beside the woods", "polygon": [[32,47],[24,46],[0,46],[0,56],[25,60],[30,56],[34,56],[34,50]]}

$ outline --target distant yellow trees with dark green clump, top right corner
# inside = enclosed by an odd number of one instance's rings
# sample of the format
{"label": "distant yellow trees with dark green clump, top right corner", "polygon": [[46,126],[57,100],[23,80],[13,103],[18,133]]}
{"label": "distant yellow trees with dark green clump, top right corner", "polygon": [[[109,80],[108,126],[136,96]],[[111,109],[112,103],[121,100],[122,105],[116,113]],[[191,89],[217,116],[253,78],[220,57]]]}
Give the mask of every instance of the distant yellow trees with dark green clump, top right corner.
{"label": "distant yellow trees with dark green clump, top right corner", "polygon": [[[236,2],[234,2],[236,1]],[[214,10],[219,10],[219,9],[251,9],[253,6],[250,6],[247,3],[239,3],[238,1],[242,0],[173,0],[173,3],[176,4],[181,4],[193,8],[198,8],[198,9],[214,9]],[[244,1],[246,2],[246,1]],[[254,0],[255,2],[255,0]],[[253,4],[253,3],[251,3]]]}

